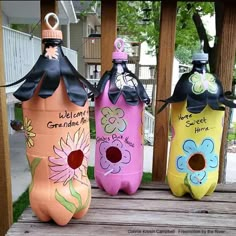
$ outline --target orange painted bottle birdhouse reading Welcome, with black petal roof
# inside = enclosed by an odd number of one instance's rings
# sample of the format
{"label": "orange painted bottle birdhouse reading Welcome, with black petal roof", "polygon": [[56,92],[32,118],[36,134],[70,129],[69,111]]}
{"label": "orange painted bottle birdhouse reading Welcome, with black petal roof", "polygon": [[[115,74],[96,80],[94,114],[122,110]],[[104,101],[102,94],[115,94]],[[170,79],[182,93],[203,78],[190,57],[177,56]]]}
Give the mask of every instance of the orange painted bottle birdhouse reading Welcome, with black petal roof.
{"label": "orange painted bottle birdhouse reading Welcome, with black petal roof", "polygon": [[[54,27],[48,18],[54,17]],[[14,93],[22,101],[26,153],[32,182],[30,205],[41,221],[59,225],[81,218],[91,200],[87,177],[90,152],[88,95],[93,87],[76,71],[56,30],[54,13],[45,17],[43,54]]]}

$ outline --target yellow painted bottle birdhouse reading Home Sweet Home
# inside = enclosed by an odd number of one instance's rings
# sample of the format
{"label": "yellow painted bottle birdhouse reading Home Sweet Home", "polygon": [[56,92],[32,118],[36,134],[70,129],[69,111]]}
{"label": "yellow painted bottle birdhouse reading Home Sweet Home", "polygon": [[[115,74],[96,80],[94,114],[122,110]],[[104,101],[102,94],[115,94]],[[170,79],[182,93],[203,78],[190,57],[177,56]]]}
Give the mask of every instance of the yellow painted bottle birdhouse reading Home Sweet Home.
{"label": "yellow painted bottle birdhouse reading Home Sweet Home", "polygon": [[168,184],[175,196],[190,193],[194,199],[210,195],[216,188],[225,106],[236,105],[225,98],[220,81],[207,72],[208,54],[193,55],[193,68],[178,81],[171,103]]}

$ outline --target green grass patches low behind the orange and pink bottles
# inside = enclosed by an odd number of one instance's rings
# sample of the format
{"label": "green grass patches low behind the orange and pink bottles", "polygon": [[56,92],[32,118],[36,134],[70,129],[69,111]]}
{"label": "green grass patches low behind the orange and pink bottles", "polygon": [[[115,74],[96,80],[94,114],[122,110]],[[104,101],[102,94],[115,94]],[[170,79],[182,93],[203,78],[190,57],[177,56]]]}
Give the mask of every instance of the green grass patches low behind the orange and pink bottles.
{"label": "green grass patches low behind the orange and pink bottles", "polygon": [[[88,167],[88,177],[89,179],[94,179],[94,168]],[[143,173],[142,182],[150,182],[152,179],[151,173]],[[16,202],[13,204],[13,220],[16,222],[20,215],[23,213],[26,207],[29,206],[29,191],[28,189],[18,198]]]}

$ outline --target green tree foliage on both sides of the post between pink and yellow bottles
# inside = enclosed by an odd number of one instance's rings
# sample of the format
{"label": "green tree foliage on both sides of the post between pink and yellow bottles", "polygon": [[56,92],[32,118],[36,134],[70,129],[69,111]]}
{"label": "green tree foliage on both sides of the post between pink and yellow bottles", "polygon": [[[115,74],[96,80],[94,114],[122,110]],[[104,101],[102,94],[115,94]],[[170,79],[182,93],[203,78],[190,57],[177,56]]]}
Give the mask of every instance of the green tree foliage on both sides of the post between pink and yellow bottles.
{"label": "green tree foliage on both sides of the post between pink and yellow bottles", "polygon": [[[118,1],[119,35],[128,35],[132,40],[147,41],[158,54],[160,32],[160,1]],[[149,21],[145,9],[150,9]],[[193,16],[214,14],[213,3],[178,2],[176,24],[176,56],[182,63],[190,63],[191,55],[200,49],[199,30]],[[207,32],[206,32],[207,35]],[[207,35],[207,39],[212,39]],[[206,42],[205,42],[206,43]]]}

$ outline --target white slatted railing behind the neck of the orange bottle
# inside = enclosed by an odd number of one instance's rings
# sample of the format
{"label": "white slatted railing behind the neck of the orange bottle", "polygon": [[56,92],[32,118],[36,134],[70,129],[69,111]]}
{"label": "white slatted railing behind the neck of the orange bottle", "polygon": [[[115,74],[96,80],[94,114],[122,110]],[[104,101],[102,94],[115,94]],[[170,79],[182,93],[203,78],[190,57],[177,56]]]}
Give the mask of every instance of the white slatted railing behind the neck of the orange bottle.
{"label": "white slatted railing behind the neck of the orange bottle", "polygon": [[[62,50],[77,68],[77,52],[65,47]],[[3,53],[5,81],[10,84],[32,69],[41,54],[41,39],[3,26]],[[7,88],[6,93],[15,91],[18,86]]]}

